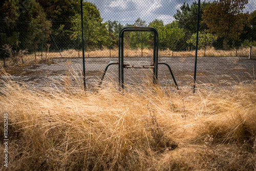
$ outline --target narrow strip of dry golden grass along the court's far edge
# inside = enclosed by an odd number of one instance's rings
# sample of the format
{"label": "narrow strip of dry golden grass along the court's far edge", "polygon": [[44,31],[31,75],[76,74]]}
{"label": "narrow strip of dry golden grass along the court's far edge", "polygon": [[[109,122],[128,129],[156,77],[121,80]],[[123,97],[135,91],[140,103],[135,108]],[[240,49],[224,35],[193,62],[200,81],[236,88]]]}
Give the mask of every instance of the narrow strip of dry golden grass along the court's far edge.
{"label": "narrow strip of dry golden grass along the court's far edge", "polygon": [[[255,48],[254,48],[255,49]],[[254,50],[253,49],[253,50]],[[159,57],[195,57],[195,50],[193,51],[181,51],[181,52],[173,52],[172,50],[163,50],[159,51]],[[61,55],[60,55],[61,54]],[[112,49],[111,52],[108,48],[103,48],[102,50],[95,50],[95,51],[85,51],[85,57],[118,57],[118,49]],[[236,53],[236,50],[224,51],[224,50],[215,50],[214,48],[207,47],[205,50],[206,57],[248,57],[249,55],[249,48],[239,49]],[[129,48],[124,49],[124,56],[125,57],[141,57],[141,49],[132,50]],[[152,49],[143,49],[142,50],[143,57],[152,57],[153,50]],[[198,56],[204,56],[204,49],[198,50]],[[36,52],[36,54],[31,53],[23,56],[23,59],[19,59],[16,64],[27,63],[30,61],[38,61],[40,59],[46,58],[59,58],[59,57],[82,57],[82,51],[69,49],[63,50],[61,52]],[[14,63],[11,58],[6,59],[6,66],[13,66]],[[0,61],[0,66],[4,66],[4,62]]]}

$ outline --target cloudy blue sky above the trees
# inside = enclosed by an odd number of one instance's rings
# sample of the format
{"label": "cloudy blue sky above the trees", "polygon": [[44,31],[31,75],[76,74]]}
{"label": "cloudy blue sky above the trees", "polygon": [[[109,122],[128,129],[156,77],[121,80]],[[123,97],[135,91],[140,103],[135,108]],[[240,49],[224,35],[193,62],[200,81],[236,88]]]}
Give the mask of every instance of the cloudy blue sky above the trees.
{"label": "cloudy blue sky above the trees", "polygon": [[[173,15],[182,4],[191,5],[195,0],[89,0],[89,2],[98,7],[104,21],[117,20],[125,25],[134,24],[138,17],[145,20],[147,24],[154,19],[162,19],[165,24],[172,23]],[[249,0],[245,11],[252,12],[253,10],[256,10],[256,0]]]}

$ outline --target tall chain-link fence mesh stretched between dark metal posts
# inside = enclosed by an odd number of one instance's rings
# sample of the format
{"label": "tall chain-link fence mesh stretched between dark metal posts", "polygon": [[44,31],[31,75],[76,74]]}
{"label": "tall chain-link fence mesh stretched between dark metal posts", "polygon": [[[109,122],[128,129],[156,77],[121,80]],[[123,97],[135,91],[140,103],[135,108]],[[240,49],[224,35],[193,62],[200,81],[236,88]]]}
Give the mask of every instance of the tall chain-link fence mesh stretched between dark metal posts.
{"label": "tall chain-link fence mesh stretched between dark metal posts", "polygon": [[[18,81],[44,83],[70,70],[82,72],[80,4],[68,2],[72,8],[58,1],[51,5],[38,1],[46,14],[44,22],[2,19],[0,63]],[[255,78],[255,7],[256,1],[245,0],[200,3],[198,83]],[[156,28],[158,62],[170,66],[179,85],[193,83],[197,14],[195,1],[83,2],[87,84],[99,81],[105,67],[118,62],[118,33],[124,27]],[[141,82],[152,73],[143,66],[152,65],[153,38],[151,32],[124,33],[125,65],[142,66],[124,69],[126,83]],[[109,67],[109,78],[118,79],[118,65]],[[159,65],[158,79],[163,85],[174,84],[165,65]]]}

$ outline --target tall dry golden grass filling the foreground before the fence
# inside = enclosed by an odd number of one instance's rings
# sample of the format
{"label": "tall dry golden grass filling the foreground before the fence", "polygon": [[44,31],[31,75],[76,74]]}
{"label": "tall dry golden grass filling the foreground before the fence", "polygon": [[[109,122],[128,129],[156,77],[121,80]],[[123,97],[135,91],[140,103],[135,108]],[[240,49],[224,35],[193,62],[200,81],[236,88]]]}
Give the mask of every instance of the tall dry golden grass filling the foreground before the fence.
{"label": "tall dry golden grass filling the foreground before the fence", "polygon": [[72,75],[39,91],[4,77],[8,170],[256,169],[255,81],[193,94],[143,85],[120,92],[111,82],[84,92],[81,80],[70,87]]}

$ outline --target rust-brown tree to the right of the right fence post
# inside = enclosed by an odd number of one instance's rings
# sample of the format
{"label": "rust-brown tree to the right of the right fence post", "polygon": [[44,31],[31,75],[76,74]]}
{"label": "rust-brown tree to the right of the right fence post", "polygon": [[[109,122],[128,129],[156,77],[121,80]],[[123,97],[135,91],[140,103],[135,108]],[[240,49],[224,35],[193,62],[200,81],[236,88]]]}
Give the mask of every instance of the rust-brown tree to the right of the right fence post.
{"label": "rust-brown tree to the right of the right fence post", "polygon": [[243,13],[248,0],[219,0],[209,3],[203,10],[203,21],[209,31],[224,37],[227,49],[228,38],[236,39],[244,29],[248,13]]}

